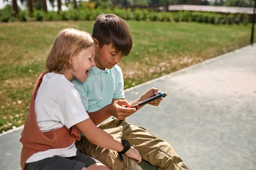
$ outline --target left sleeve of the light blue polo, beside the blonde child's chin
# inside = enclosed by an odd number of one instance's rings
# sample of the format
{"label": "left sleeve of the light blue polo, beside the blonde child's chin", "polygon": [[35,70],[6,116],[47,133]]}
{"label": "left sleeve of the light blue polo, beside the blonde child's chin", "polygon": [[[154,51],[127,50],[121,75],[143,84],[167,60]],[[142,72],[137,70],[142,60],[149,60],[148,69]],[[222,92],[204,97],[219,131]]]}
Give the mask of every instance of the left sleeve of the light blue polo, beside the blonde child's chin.
{"label": "left sleeve of the light blue polo, beside the blonde child's chin", "polygon": [[71,80],[76,90],[79,92],[81,101],[86,111],[88,111],[89,98],[87,96],[87,85],[85,82],[79,82],[77,79]]}

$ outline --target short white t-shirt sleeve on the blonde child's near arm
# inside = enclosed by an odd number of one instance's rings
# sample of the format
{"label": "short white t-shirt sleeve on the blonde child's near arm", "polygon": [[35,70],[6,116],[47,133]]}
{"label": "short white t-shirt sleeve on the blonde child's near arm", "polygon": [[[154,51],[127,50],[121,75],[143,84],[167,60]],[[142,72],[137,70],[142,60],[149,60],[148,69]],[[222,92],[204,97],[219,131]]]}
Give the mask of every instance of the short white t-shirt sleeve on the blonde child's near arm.
{"label": "short white t-shirt sleeve on the blonde child's near arm", "polygon": [[74,90],[66,94],[59,102],[58,107],[61,113],[56,116],[68,129],[89,118],[78,91]]}

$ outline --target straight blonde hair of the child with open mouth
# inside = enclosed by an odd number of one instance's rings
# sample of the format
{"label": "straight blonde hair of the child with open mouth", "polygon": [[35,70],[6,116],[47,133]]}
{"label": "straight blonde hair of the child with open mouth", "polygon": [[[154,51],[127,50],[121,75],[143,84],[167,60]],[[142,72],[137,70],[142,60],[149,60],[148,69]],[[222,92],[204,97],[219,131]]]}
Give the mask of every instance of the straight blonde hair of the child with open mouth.
{"label": "straight blonde hair of the child with open mouth", "polygon": [[79,52],[95,45],[91,35],[85,31],[74,28],[61,30],[49,51],[45,68],[49,72],[64,73],[73,66],[69,63],[72,54],[74,57]]}

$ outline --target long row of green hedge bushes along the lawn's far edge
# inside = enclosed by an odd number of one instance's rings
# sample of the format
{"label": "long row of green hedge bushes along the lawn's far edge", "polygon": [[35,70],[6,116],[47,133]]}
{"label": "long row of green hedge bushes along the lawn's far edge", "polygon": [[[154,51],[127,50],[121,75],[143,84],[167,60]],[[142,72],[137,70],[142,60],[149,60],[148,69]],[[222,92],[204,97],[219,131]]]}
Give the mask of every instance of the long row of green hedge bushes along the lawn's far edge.
{"label": "long row of green hedge bushes along the lawn's far edge", "polygon": [[11,6],[6,6],[0,10],[0,20],[3,22],[9,22],[14,20],[28,21],[32,20],[95,20],[100,12],[116,14],[125,20],[137,20],[137,21],[166,21],[166,22],[199,22],[199,23],[212,23],[212,24],[247,24],[249,22],[249,16],[247,14],[218,14],[213,12],[191,12],[191,11],[179,11],[179,12],[156,12],[148,11],[146,9],[131,9],[122,10],[119,8],[105,9],[105,10],[68,10],[61,11],[58,14],[56,11],[49,11],[45,13],[41,10],[34,10],[34,14],[29,16],[28,10],[20,10],[17,17],[13,16]]}

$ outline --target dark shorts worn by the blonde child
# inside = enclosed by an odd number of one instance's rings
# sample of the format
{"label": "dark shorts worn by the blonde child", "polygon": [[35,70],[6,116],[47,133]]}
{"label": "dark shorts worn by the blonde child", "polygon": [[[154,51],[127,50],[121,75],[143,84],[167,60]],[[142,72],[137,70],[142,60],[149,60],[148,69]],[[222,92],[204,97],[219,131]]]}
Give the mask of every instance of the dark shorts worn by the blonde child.
{"label": "dark shorts worn by the blonde child", "polygon": [[81,170],[83,167],[89,167],[97,162],[100,161],[77,151],[76,156],[68,158],[53,156],[40,161],[26,163],[25,170]]}

